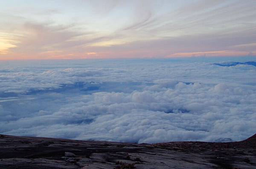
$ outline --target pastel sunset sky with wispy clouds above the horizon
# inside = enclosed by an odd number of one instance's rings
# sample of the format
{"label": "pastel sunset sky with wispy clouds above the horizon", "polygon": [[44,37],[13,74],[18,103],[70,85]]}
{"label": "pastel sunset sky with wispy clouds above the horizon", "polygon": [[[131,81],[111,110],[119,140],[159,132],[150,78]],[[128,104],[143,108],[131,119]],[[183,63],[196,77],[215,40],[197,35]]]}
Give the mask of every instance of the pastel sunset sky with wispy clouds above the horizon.
{"label": "pastel sunset sky with wispy clouds above the horizon", "polygon": [[256,56],[255,0],[5,0],[0,60]]}

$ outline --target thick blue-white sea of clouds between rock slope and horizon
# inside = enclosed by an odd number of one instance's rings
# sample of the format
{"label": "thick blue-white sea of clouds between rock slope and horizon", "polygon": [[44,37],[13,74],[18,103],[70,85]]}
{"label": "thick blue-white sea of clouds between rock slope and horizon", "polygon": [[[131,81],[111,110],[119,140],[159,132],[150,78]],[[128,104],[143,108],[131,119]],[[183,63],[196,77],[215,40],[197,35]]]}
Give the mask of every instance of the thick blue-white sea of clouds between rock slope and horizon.
{"label": "thick blue-white sea of clouds between rock slope and horizon", "polygon": [[243,140],[256,133],[256,59],[244,58],[2,61],[0,133]]}

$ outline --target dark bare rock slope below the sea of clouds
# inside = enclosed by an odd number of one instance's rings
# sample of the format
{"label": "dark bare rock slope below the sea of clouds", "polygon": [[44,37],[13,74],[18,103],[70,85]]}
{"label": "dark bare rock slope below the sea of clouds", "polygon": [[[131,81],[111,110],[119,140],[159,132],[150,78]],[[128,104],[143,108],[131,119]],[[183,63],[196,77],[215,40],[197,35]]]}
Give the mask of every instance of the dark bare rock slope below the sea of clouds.
{"label": "dark bare rock slope below the sea of clouds", "polygon": [[0,169],[256,169],[256,135],[230,143],[131,144],[0,135]]}

